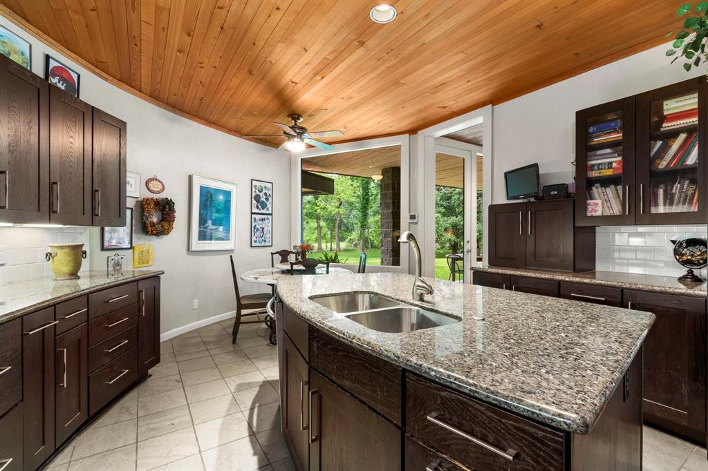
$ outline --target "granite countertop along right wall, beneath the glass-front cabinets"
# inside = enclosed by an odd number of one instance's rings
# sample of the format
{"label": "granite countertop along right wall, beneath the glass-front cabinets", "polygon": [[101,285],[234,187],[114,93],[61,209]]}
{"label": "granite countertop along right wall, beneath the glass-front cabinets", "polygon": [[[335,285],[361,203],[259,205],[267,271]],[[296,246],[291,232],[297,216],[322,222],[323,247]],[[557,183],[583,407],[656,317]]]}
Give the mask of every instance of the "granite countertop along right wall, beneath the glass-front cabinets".
{"label": "granite countertop along right wall, beneath the glass-front cabinets", "polygon": [[681,283],[676,277],[657,277],[656,275],[617,273],[617,272],[547,272],[529,268],[511,267],[472,267],[474,272],[487,272],[508,274],[519,277],[532,277],[542,279],[556,279],[559,281],[575,281],[577,283],[598,284],[600,286],[614,286],[616,288],[639,289],[653,291],[654,293],[684,294],[688,296],[706,297],[706,282],[696,283],[684,281]]}

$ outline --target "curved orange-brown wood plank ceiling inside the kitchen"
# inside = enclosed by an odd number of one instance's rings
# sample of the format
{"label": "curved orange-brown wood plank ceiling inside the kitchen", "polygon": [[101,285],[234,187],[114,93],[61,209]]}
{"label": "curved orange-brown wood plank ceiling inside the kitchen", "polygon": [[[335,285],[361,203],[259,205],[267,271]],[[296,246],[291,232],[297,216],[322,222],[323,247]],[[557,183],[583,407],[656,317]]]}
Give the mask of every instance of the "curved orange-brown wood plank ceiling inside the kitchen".
{"label": "curved orange-brown wood plank ceiling inside the kitchen", "polygon": [[[344,138],[415,132],[665,41],[684,0],[0,0],[140,96],[233,134],[304,115]],[[5,8],[6,7],[6,8]],[[265,140],[277,146],[280,140]]]}

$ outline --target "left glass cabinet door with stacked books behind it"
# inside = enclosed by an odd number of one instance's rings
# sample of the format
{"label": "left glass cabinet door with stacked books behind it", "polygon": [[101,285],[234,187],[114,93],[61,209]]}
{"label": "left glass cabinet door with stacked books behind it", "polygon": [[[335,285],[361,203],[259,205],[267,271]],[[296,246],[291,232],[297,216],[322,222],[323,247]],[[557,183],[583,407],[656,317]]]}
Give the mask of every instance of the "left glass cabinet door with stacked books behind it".
{"label": "left glass cabinet door with stacked books behind it", "polygon": [[576,225],[634,223],[634,98],[576,115]]}

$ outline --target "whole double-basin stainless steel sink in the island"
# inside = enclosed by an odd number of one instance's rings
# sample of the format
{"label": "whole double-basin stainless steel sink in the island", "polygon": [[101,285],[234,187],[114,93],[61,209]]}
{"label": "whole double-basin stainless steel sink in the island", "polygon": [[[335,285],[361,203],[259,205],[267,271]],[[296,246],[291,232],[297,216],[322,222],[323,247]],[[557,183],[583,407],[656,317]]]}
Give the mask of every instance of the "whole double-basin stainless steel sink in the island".
{"label": "whole double-basin stainless steel sink in the island", "polygon": [[376,293],[346,293],[311,299],[320,306],[379,332],[412,332],[459,322],[459,319],[410,306]]}

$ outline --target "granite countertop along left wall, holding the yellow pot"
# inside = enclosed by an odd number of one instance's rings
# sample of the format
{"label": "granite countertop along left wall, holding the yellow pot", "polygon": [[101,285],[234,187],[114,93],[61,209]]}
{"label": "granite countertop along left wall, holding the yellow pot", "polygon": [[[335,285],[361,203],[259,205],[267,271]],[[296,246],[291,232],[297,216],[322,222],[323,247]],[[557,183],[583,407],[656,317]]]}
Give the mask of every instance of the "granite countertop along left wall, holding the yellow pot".
{"label": "granite countertop along left wall, holding the yellow pot", "polygon": [[161,274],[164,272],[128,270],[122,277],[108,277],[105,270],[96,270],[80,272],[79,279],[43,277],[0,283],[0,324],[76,296]]}

